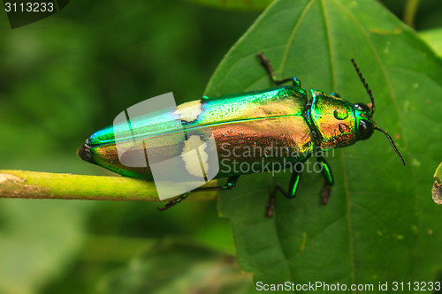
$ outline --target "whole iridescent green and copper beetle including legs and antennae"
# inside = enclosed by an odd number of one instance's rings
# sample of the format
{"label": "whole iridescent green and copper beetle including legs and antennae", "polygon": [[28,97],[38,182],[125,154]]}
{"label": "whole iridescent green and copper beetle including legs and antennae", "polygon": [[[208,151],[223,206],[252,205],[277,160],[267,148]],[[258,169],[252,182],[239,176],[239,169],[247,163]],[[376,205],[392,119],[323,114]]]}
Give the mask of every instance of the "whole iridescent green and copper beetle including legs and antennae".
{"label": "whole iridescent green and copper beetle including legs and antennae", "polygon": [[[178,157],[185,163],[184,170],[176,170],[178,168],[167,165],[164,165],[164,169],[175,169],[177,172],[196,177],[200,172],[198,170],[203,169],[209,173],[217,164],[208,161],[204,149],[197,164],[189,162],[184,153],[189,145],[201,145],[202,139],[213,136],[218,158],[222,158],[219,163],[223,163],[225,167],[217,170],[214,178],[227,177],[227,180],[222,186],[200,187],[195,190],[232,189],[241,175],[264,171],[265,165],[269,163],[278,163],[283,169],[292,169],[288,190],[278,185],[271,193],[267,207],[268,216],[271,216],[276,191],[282,192],[288,199],[295,197],[301,172],[294,169],[293,164],[306,162],[312,155],[316,156],[324,176],[321,195],[325,204],[330,197],[334,180],[323,151],[347,147],[358,140],[369,139],[374,130],[385,133],[400,161],[405,165],[388,132],[377,127],[373,121],[374,97],[353,58],[351,61],[354,69],[370,96],[370,106],[365,103],[348,102],[340,98],[339,94],[325,94],[315,89],[310,90],[309,99],[298,79],[276,79],[270,61],[262,53],[257,57],[276,87],[215,98],[203,96],[200,100],[183,103],[177,109],[167,110],[160,114],[159,118],[139,119],[134,126],[138,133],[136,138],[125,134],[118,125],[104,128],[95,132],[80,146],[78,155],[86,162],[95,163],[126,177],[153,180],[150,168],[153,163],[144,167],[129,167],[118,157],[117,144],[130,144],[138,140],[142,141],[142,145],[138,146],[149,150],[149,162],[163,162],[164,158]],[[287,82],[292,82],[292,86],[280,86]],[[184,130],[161,123],[171,120],[178,121]],[[186,133],[185,139],[175,139],[175,136],[182,132]],[[188,135],[189,132],[192,135]],[[275,147],[282,151],[277,156],[270,155]],[[245,155],[239,153],[239,149],[249,152]],[[252,149],[264,151],[252,154]],[[255,169],[234,170],[234,164],[253,165]],[[179,203],[186,199],[189,193],[181,194],[159,209],[164,210]]]}

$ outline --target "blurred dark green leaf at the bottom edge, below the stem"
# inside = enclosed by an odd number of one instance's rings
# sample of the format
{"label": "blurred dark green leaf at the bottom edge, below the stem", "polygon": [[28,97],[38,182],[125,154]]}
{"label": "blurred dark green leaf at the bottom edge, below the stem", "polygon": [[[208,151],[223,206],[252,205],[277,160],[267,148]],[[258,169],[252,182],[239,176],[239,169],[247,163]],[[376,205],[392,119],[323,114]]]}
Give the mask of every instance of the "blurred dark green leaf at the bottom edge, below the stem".
{"label": "blurred dark green leaf at the bottom edge, below the stem", "polygon": [[250,275],[231,256],[193,242],[166,239],[108,276],[99,293],[253,293]]}

